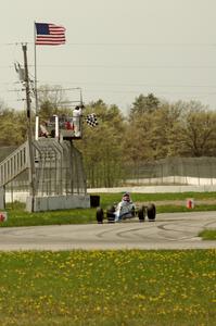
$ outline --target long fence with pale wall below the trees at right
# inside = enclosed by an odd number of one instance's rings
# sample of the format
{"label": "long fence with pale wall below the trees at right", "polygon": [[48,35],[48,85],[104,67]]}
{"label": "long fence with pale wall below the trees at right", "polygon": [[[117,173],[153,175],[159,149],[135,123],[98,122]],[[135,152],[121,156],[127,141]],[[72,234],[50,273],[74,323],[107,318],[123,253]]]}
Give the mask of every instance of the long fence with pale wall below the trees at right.
{"label": "long fence with pale wall below the trees at right", "polygon": [[125,171],[125,185],[216,185],[216,158],[167,158]]}

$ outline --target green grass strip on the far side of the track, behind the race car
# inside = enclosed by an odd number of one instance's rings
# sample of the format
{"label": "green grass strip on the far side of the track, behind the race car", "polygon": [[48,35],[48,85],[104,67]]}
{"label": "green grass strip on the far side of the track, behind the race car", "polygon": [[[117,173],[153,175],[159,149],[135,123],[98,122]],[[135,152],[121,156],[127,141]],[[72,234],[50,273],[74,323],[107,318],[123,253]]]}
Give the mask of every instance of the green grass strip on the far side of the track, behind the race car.
{"label": "green grass strip on the far side of the track, behind the race car", "polygon": [[[107,205],[118,202],[122,193],[100,193],[100,205]],[[187,193],[132,193],[135,202],[148,203],[154,201],[164,201],[163,204],[156,204],[157,213],[173,212],[192,212],[192,211],[216,211],[216,203],[195,204],[193,210],[186,208],[186,199],[194,198],[198,200],[215,200],[216,192],[187,192]],[[168,204],[166,200],[171,201]],[[182,201],[183,204],[179,204]],[[8,226],[35,226],[35,225],[54,225],[54,224],[84,224],[96,223],[96,209],[74,209],[64,211],[49,211],[39,213],[25,212],[25,205],[13,203],[7,206],[8,222],[1,223],[0,227]]]}

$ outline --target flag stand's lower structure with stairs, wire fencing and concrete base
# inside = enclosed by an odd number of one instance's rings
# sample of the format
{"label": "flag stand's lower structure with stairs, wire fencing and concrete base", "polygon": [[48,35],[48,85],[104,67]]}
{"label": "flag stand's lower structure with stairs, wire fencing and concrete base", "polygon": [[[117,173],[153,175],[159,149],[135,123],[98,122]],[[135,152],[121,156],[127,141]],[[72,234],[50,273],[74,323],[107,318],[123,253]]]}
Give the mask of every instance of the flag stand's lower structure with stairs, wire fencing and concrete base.
{"label": "flag stand's lower structure with stairs, wire fencing and concrete base", "polygon": [[89,206],[82,155],[73,142],[41,138],[26,141],[0,163],[0,209],[5,192],[26,196],[29,212]]}

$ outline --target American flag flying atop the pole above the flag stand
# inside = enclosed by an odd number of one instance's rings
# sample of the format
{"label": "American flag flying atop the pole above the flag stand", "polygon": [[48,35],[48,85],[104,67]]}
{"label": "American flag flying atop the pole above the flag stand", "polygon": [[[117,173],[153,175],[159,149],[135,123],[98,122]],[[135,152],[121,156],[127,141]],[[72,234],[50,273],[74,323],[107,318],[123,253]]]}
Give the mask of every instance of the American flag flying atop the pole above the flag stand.
{"label": "American flag flying atop the pole above the flag stand", "polygon": [[65,43],[65,28],[54,24],[35,23],[36,46],[59,46]]}

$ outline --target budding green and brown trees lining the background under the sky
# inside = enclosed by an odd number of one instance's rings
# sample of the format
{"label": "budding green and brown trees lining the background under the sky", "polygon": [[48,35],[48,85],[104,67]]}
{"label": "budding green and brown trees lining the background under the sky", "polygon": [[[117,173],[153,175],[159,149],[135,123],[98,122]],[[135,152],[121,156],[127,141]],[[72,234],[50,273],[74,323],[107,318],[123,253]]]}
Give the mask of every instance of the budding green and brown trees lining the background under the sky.
{"label": "budding green and brown trees lining the background under the sky", "polygon": [[[43,91],[39,98],[40,117],[71,114],[72,109],[61,105],[63,97],[61,91]],[[169,156],[216,156],[216,111],[199,101],[169,103],[149,93],[135,98],[127,115],[101,99],[86,104],[84,114],[92,112],[98,126],[84,123],[82,139],[74,141],[82,152],[90,187],[118,185],[126,164]],[[25,111],[0,103],[1,147],[18,146],[26,140],[25,118]]]}

